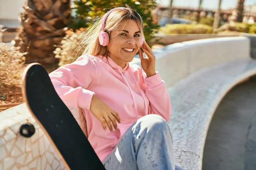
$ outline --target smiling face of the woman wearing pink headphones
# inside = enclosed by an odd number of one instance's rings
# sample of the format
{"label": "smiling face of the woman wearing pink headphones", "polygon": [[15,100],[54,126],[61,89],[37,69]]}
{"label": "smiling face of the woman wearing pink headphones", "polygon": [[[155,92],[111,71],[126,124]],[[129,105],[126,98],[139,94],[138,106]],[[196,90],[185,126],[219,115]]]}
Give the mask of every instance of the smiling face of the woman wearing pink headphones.
{"label": "smiling face of the woman wearing pink headphones", "polygon": [[136,21],[122,22],[116,30],[111,32],[108,44],[109,57],[124,68],[125,63],[131,62],[139,51],[141,35]]}

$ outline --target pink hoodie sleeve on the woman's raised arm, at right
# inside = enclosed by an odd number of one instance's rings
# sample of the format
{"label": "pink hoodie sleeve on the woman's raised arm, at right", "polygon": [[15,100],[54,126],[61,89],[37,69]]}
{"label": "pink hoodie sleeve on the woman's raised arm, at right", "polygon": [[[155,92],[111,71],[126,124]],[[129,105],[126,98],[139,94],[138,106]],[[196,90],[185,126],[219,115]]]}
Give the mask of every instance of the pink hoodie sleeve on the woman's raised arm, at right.
{"label": "pink hoodie sleeve on the woman's raised arm, at right", "polygon": [[146,77],[145,73],[142,74],[146,84],[145,94],[150,102],[148,114],[158,114],[168,122],[171,117],[172,107],[164,81],[158,72],[151,77]]}

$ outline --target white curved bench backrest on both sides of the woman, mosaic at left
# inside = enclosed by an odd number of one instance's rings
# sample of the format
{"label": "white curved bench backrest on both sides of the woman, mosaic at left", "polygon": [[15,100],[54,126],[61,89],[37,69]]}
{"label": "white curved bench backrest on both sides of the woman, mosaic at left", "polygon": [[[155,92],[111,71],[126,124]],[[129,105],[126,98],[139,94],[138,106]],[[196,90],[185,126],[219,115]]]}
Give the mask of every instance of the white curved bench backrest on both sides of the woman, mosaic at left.
{"label": "white curved bench backrest on both sides of the woman, mosaic at left", "polygon": [[[167,88],[203,68],[250,58],[250,40],[245,37],[195,40],[168,45],[154,50],[157,71]],[[36,133],[26,139],[19,133],[20,125],[31,122]],[[25,104],[0,113],[0,170],[63,169],[44,132],[32,118]]]}

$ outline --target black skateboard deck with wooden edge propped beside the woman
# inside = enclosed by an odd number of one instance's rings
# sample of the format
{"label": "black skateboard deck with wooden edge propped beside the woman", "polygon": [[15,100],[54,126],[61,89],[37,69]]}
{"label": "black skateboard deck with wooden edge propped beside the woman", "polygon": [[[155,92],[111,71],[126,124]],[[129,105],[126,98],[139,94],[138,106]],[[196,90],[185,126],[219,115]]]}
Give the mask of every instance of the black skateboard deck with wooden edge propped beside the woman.
{"label": "black skateboard deck with wooden edge propped beside the woman", "polygon": [[105,170],[76,119],[55,91],[45,68],[39,63],[29,64],[22,79],[26,105],[65,167]]}

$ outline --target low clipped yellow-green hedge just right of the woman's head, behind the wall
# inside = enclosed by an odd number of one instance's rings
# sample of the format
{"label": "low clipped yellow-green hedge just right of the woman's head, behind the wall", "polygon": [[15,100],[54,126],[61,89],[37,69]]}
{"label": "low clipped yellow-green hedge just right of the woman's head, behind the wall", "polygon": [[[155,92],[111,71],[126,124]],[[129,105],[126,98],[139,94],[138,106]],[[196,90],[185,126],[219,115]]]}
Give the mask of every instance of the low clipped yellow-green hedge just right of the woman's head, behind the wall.
{"label": "low clipped yellow-green hedge just right of the woman's head, behind the wall", "polygon": [[212,27],[202,24],[166,24],[159,31],[163,34],[212,34]]}

